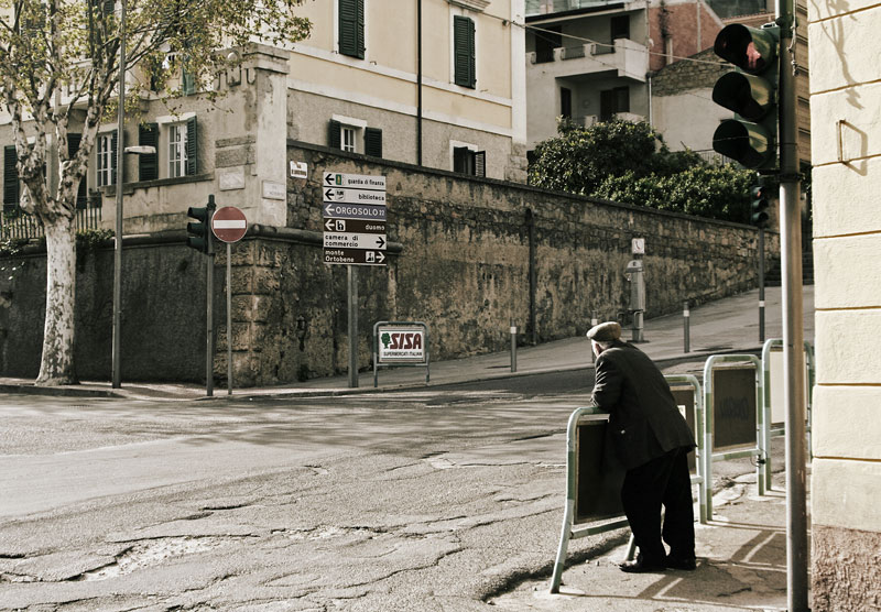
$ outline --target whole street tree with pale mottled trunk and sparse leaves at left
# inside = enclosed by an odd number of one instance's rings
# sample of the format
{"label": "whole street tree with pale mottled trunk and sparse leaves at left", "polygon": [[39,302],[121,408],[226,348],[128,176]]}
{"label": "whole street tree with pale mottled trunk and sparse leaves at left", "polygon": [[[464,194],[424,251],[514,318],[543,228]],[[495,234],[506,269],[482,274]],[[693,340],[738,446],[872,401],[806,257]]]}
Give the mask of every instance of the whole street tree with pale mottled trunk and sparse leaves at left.
{"label": "whole street tree with pale mottled trunk and sparse leaves at left", "polygon": [[[175,57],[176,70],[185,67],[196,83],[207,84],[231,61],[219,53],[222,48],[305,39],[311,24],[294,14],[301,3],[127,0],[122,36],[120,6],[112,0],[0,0],[0,109],[12,122],[21,208],[46,236],[46,318],[37,384],[76,382],[76,197],[98,128],[116,109],[120,41],[126,41],[127,67],[133,67],[129,88],[170,83],[168,56]],[[181,87],[165,92],[173,97]],[[67,130],[75,110],[77,122],[83,117],[81,136],[69,154]],[[50,184],[52,177],[57,177],[57,187]]]}

